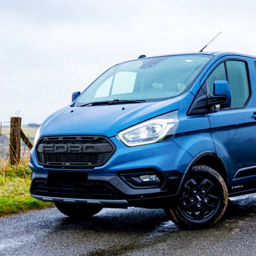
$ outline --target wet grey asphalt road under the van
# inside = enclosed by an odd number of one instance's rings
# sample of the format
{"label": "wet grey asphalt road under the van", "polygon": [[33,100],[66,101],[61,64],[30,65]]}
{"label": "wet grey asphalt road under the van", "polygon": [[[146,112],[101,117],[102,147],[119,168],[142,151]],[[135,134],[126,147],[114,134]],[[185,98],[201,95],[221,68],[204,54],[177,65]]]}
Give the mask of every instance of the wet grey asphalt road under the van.
{"label": "wet grey asphalt road under the van", "polygon": [[163,210],[104,209],[88,221],[57,209],[0,218],[1,256],[256,255],[256,194],[232,199],[225,218],[180,230]]}

